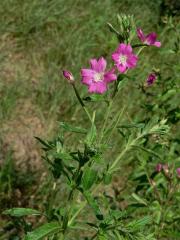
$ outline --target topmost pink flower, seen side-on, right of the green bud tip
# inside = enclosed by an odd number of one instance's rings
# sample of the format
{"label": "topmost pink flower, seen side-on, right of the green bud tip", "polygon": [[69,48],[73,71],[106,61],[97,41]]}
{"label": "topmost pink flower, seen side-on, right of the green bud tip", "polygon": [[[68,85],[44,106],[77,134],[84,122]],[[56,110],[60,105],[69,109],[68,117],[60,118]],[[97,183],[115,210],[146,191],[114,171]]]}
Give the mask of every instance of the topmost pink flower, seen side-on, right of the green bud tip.
{"label": "topmost pink flower, seen side-on, right of the green bud tip", "polygon": [[137,29],[137,35],[138,38],[147,45],[153,45],[156,47],[160,47],[161,46],[161,42],[156,41],[157,39],[157,35],[155,32],[149,33],[148,35],[144,35],[143,31],[141,28]]}

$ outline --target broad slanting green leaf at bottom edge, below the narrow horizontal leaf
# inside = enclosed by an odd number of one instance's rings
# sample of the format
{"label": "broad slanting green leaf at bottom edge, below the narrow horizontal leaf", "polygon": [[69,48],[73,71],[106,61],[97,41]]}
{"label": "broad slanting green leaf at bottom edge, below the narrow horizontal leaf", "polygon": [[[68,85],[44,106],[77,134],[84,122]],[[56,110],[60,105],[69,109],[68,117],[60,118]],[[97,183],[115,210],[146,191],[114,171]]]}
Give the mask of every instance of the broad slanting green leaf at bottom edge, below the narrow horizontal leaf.
{"label": "broad slanting green leaf at bottom edge, below the narrow horizontal leaf", "polygon": [[57,222],[46,223],[25,236],[25,240],[39,240],[44,237],[62,231]]}

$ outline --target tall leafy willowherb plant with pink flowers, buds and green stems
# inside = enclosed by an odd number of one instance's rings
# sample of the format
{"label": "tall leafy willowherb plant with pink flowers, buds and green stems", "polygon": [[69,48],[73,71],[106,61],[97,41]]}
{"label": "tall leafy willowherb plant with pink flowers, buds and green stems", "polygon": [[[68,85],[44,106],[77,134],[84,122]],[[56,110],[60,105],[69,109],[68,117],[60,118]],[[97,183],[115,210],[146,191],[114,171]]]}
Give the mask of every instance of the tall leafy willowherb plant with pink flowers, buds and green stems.
{"label": "tall leafy willowherb plant with pink flowers, buds and green stems", "polygon": [[[176,229],[180,215],[173,215],[172,202],[177,206],[179,201],[180,168],[176,164],[167,165],[156,150],[151,148],[154,142],[163,146],[164,135],[169,131],[167,120],[159,120],[154,116],[146,123],[121,124],[127,109],[124,106],[116,113],[113,111],[113,106],[121,97],[119,93],[123,85],[130,79],[127,73],[136,68],[141,51],[145,47],[160,47],[161,43],[156,41],[154,32],[145,35],[138,28],[137,39],[140,39],[141,43],[132,45],[132,36],[136,30],[133,17],[118,16],[118,24],[120,27],[116,29],[108,23],[119,41],[117,49],[111,54],[113,67],[107,67],[106,59],[100,57],[90,60],[90,68],[81,69],[81,83],[88,87],[88,97],[81,97],[73,74],[63,71],[63,76],[72,86],[87,115],[89,127],[75,127],[61,122],[61,131],[55,140],[44,141],[37,137],[43,145],[43,158],[53,177],[49,202],[43,213],[23,208],[4,212],[14,217],[45,216],[47,222],[34,230],[27,228],[23,222],[26,240],[45,237],[54,240],[153,240],[164,239],[163,237],[173,234],[177,235],[178,239],[179,233]],[[151,87],[157,78],[156,72],[149,73],[144,87]],[[100,122],[96,121],[97,111],[92,111],[92,105],[88,107],[88,101],[98,104],[98,108],[101,108],[102,102],[105,103],[106,109]],[[75,147],[66,146],[66,132],[82,135]],[[118,153],[113,151],[113,145],[116,141],[119,142],[117,137],[115,138],[116,133],[121,139]],[[174,149],[172,147],[169,151],[169,156],[172,156]],[[149,157],[158,159],[157,165],[150,162],[148,166]],[[122,175],[126,169],[125,164],[127,172],[130,172],[129,163],[135,158],[138,164],[132,164],[134,169],[128,179],[124,180],[123,189],[118,193],[115,190],[113,196],[108,195],[105,189],[110,184],[111,188],[113,187],[113,176]],[[60,187],[62,185],[63,191]],[[132,185],[134,187],[131,187]],[[128,196],[121,199],[121,192],[127,188]],[[59,196],[59,193],[63,194],[63,197]],[[119,204],[122,202],[124,207]]]}

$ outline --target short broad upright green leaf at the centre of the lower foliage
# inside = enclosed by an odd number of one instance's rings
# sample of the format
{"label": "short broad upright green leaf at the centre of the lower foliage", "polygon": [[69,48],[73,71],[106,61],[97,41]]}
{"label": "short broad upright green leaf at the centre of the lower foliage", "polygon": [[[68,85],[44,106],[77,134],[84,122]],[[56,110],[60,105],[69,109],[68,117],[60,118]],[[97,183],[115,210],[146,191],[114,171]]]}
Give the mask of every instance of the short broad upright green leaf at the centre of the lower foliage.
{"label": "short broad upright green leaf at the centre of the lower foliage", "polygon": [[92,187],[92,185],[96,182],[97,172],[94,169],[86,168],[83,177],[82,177],[82,185],[83,189],[86,191]]}

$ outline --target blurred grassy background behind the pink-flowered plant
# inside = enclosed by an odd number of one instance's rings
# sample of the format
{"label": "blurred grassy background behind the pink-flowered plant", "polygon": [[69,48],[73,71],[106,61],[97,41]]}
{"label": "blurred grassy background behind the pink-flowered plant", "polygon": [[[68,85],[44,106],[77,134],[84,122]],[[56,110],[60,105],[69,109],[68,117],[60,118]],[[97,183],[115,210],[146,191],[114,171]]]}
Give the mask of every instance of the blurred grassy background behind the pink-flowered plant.
{"label": "blurred grassy background behind the pink-flowered plant", "polygon": [[[14,155],[14,152],[23,151],[24,145],[31,151],[29,139],[32,138],[30,141],[32,145],[35,140],[33,136],[26,134],[27,128],[34,136],[49,138],[56,136],[57,121],[68,120],[78,121],[79,125],[87,124],[61,72],[62,69],[69,69],[75,75],[76,81],[80,82],[80,69],[88,66],[90,58],[105,56],[110,60],[110,53],[116,48],[117,40],[109,32],[106,23],[116,24],[118,13],[133,14],[136,25],[145,33],[157,32],[162,48],[158,50],[158,54],[157,49],[153,48],[143,52],[137,70],[132,71],[130,75],[132,81],[124,90],[114,111],[126,104],[128,110],[123,117],[124,122],[127,118],[130,122],[147,121],[157,113],[160,118],[167,118],[172,129],[169,142],[175,142],[174,152],[178,156],[180,144],[178,2],[1,1],[0,209],[17,205],[35,207],[45,201],[44,195],[52,186],[45,168],[42,167],[38,145],[35,147],[38,152],[35,157],[34,155],[24,157],[27,155],[26,152],[19,157],[18,154]],[[143,69],[141,74],[139,68]],[[159,78],[157,83],[144,93],[142,86],[152,68],[159,73]],[[78,87],[82,89],[85,97],[86,87],[80,84]],[[99,109],[98,105],[96,107],[100,121],[102,109]],[[32,122],[34,127],[31,126]],[[21,138],[22,146],[18,145]],[[72,138],[71,141],[73,147],[76,139]],[[16,147],[17,145],[19,147]],[[116,150],[117,148],[113,151]],[[162,151],[162,156],[163,154],[165,152]],[[37,160],[34,161],[34,158]],[[28,165],[26,170],[23,168],[24,165]],[[126,178],[126,173],[124,177]],[[42,184],[36,186],[36,179]],[[10,231],[4,235],[3,229],[6,228]],[[18,239],[13,238],[17,236],[13,229],[11,223],[2,218],[0,239]]]}

